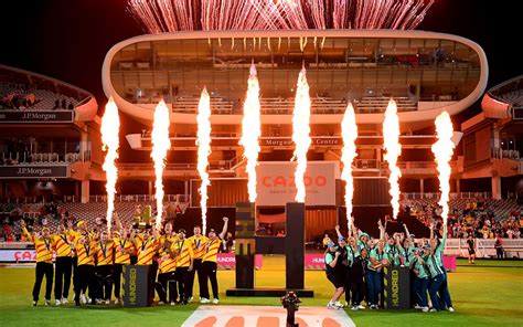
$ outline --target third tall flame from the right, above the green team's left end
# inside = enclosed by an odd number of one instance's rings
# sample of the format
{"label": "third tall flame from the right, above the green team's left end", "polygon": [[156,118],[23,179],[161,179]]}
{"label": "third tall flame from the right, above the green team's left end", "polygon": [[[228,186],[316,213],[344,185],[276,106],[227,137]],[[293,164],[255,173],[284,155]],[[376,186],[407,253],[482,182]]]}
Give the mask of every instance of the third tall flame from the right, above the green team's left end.
{"label": "third tall flame from the right, above the green team's left end", "polygon": [[341,172],[341,179],[345,181],[345,207],[346,207],[346,224],[349,231],[352,230],[352,198],[354,196],[354,180],[352,177],[352,161],[357,157],[356,152],[356,138],[357,138],[357,125],[356,116],[352,104],[349,103],[341,122],[341,136],[343,138],[343,149],[341,155],[341,161],[343,162],[343,171]]}

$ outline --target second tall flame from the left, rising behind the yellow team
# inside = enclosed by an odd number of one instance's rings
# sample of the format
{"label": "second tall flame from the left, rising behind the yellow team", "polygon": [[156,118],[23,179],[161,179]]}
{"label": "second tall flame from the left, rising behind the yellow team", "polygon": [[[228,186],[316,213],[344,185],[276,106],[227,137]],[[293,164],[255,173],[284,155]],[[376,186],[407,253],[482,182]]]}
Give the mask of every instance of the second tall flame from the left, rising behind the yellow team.
{"label": "second tall flame from the left, rising behind the yellow team", "polygon": [[163,168],[166,167],[167,151],[171,148],[169,138],[169,108],[163,101],[160,101],[154,108],[154,123],[152,125],[152,151],[151,158],[154,161],[154,199],[157,201],[156,226],[161,225],[163,213]]}

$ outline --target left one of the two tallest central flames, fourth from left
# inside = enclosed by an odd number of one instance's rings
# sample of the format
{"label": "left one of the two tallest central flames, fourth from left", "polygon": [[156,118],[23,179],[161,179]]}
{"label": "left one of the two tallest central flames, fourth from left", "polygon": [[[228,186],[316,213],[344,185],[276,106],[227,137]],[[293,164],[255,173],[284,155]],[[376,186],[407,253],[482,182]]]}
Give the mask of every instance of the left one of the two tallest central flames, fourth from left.
{"label": "left one of the two tallest central flames, fourth from left", "polygon": [[239,140],[239,145],[244,147],[244,157],[247,158],[249,202],[256,202],[256,166],[260,150],[258,138],[262,136],[259,83],[256,75],[256,66],[252,64],[247,96],[244,103],[244,118],[242,119],[242,139]]}

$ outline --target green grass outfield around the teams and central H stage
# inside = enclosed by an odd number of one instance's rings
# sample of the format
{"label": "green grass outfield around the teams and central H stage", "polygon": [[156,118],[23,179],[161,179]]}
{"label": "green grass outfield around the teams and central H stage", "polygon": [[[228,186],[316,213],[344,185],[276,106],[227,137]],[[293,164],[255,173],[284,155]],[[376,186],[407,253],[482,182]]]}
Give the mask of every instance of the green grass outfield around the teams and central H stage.
{"label": "green grass outfield around the teams and central H stage", "polygon": [[[256,272],[257,286],[281,287],[285,284],[282,257],[265,257],[264,268]],[[34,270],[0,268],[0,326],[180,326],[198,307],[161,306],[125,309],[114,306],[31,307]],[[456,313],[419,313],[365,310],[349,316],[356,326],[523,326],[523,262],[479,261],[468,265],[458,262],[458,271],[449,274],[450,293]],[[234,272],[218,272],[221,292],[234,285]],[[42,285],[44,286],[44,285]],[[323,272],[307,272],[306,287],[314,289],[314,298],[302,305],[324,306],[331,285]],[[40,304],[43,303],[43,288]],[[71,299],[71,296],[70,296]],[[279,305],[278,298],[225,297],[227,305]],[[67,325],[65,325],[67,326]]]}

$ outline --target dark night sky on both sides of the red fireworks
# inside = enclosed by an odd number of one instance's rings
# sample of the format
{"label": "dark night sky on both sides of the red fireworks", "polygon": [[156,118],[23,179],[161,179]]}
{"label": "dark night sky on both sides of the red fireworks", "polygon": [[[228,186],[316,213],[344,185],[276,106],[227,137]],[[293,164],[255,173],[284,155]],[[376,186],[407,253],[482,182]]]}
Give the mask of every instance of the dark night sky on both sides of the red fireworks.
{"label": "dark night sky on both sides of the red fireworks", "polygon": [[[127,0],[2,1],[0,63],[49,75],[93,93],[100,109],[102,64],[117,42],[142,34],[126,12]],[[418,30],[461,35],[478,42],[490,65],[489,87],[523,74],[516,1],[436,0]],[[521,44],[520,44],[521,46]],[[457,117],[479,112],[479,103]],[[141,127],[124,118],[126,129]],[[129,122],[127,122],[129,120]]]}

